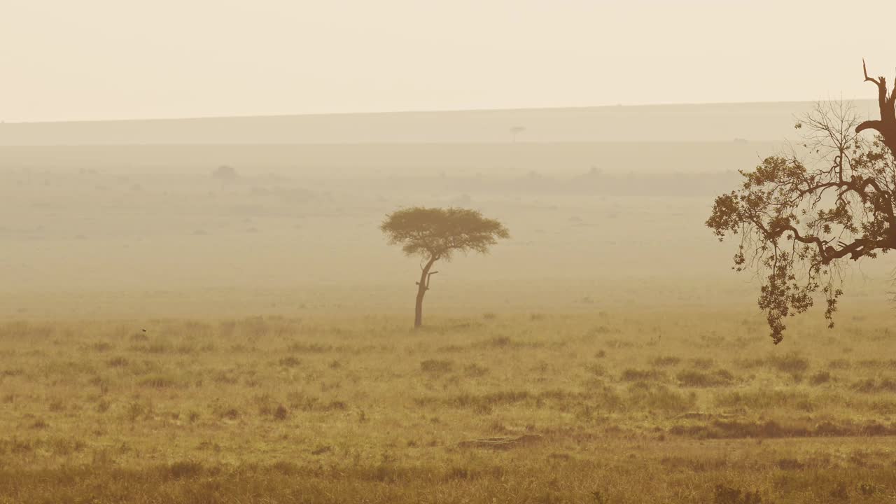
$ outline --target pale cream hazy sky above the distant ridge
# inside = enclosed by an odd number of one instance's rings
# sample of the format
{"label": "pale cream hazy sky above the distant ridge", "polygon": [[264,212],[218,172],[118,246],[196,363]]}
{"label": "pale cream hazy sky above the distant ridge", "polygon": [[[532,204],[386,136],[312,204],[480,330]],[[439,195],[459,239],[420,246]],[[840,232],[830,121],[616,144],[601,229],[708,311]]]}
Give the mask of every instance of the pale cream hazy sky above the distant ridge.
{"label": "pale cream hazy sky above the distant ridge", "polygon": [[0,0],[0,119],[874,98],[896,3]]}

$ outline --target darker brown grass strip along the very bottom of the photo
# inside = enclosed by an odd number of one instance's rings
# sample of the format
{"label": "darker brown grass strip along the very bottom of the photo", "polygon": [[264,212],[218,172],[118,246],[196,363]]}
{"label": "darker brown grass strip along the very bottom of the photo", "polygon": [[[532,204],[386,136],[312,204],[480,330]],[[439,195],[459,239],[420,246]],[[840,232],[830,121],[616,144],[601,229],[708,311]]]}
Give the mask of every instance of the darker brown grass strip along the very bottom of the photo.
{"label": "darker brown grass strip along the very bottom of the photo", "polygon": [[[836,443],[841,448],[841,443]],[[635,448],[635,447],[629,447]],[[640,447],[639,451],[650,450]],[[772,450],[775,451],[775,450]],[[757,455],[754,453],[754,455]],[[765,454],[767,457],[767,453]],[[883,502],[892,466],[824,457],[448,456],[444,466],[180,462],[0,472],[4,502]],[[869,460],[865,461],[866,463]],[[745,490],[749,489],[749,490]],[[738,496],[737,493],[740,495]],[[754,494],[759,500],[749,500]],[[769,496],[773,496],[771,499]]]}

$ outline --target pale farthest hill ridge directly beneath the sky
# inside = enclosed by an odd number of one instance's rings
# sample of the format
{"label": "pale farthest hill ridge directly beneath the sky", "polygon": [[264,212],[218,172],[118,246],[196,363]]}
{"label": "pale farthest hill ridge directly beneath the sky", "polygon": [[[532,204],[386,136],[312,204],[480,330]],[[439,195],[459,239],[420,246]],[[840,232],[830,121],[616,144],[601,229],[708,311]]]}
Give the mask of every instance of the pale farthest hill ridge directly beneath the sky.
{"label": "pale farthest hill ridge directly beneath the sky", "polygon": [[[873,100],[856,102],[874,115]],[[813,102],[0,124],[0,145],[780,142]]]}

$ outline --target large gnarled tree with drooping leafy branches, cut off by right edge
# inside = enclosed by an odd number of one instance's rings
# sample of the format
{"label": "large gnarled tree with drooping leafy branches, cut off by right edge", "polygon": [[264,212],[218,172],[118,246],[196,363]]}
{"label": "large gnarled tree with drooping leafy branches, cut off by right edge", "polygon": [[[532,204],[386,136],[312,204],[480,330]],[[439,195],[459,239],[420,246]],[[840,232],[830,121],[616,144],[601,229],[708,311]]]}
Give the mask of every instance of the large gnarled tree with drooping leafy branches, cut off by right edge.
{"label": "large gnarled tree with drooping leafy branches, cut off by right edge", "polygon": [[860,122],[848,104],[818,104],[797,123],[809,158],[776,155],[741,171],[743,185],[717,197],[706,222],[719,240],[740,235],[734,268],[761,278],[759,308],[775,344],[785,317],[805,312],[819,291],[833,327],[845,260],[896,248],[896,89],[887,94],[886,79],[862,67],[877,86],[880,119]]}

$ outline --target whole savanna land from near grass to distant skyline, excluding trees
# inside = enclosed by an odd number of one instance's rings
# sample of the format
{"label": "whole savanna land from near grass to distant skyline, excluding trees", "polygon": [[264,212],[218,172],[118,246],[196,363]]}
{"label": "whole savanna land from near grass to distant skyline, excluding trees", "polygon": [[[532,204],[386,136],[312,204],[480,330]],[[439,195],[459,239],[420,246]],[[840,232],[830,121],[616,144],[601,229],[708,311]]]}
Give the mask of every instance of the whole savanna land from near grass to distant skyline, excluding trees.
{"label": "whole savanna land from near grass to distant skyline, excluding trees", "polygon": [[[773,345],[704,225],[793,111],[658,108],[646,140],[610,127],[637,108],[443,143],[4,126],[34,146],[0,147],[0,503],[896,501],[892,258]],[[82,126],[47,127],[143,137]],[[420,204],[511,239],[437,263],[415,331],[379,225]]]}

